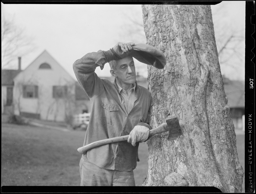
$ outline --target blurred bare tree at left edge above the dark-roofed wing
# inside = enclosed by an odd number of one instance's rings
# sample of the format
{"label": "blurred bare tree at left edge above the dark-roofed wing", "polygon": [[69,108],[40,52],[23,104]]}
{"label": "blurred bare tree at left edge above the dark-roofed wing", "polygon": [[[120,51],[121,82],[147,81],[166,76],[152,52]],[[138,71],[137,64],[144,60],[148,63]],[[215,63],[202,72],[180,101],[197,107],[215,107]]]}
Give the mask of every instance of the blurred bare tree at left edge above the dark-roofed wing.
{"label": "blurred bare tree at left edge above the dark-roofed wing", "polygon": [[14,19],[7,19],[2,12],[1,17],[2,69],[13,68],[11,62],[35,49],[33,38],[25,35],[24,29],[17,27]]}

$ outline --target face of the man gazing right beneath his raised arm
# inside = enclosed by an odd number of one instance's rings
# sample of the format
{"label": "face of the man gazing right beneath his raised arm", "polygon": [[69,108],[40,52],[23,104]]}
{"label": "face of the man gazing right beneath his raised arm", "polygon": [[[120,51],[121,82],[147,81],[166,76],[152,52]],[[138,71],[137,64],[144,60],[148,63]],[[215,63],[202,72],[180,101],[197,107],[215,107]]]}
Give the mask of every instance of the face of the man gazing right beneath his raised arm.
{"label": "face of the man gazing right beneath his raised arm", "polygon": [[116,68],[112,74],[121,84],[133,84],[136,81],[134,61],[131,56],[126,56],[116,61]]}

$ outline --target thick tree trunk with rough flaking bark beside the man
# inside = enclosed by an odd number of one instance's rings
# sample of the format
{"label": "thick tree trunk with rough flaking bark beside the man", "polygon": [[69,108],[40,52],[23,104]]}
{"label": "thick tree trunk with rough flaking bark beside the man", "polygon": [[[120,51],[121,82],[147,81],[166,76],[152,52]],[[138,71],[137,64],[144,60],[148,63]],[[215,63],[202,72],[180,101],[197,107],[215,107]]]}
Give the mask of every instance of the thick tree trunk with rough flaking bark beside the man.
{"label": "thick tree trunk with rough flaking bark beside the man", "polygon": [[152,127],[177,116],[183,135],[148,143],[143,186],[214,186],[241,192],[243,169],[227,105],[210,5],[143,5],[147,44],[163,51],[164,69],[148,67]]}

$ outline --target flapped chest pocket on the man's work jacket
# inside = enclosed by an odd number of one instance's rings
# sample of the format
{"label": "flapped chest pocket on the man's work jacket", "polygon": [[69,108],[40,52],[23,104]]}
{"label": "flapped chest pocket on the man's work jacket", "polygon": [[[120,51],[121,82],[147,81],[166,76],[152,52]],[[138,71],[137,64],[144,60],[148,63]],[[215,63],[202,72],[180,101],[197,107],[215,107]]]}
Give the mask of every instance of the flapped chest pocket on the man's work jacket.
{"label": "flapped chest pocket on the man's work jacket", "polygon": [[100,123],[113,126],[118,111],[118,105],[102,102]]}

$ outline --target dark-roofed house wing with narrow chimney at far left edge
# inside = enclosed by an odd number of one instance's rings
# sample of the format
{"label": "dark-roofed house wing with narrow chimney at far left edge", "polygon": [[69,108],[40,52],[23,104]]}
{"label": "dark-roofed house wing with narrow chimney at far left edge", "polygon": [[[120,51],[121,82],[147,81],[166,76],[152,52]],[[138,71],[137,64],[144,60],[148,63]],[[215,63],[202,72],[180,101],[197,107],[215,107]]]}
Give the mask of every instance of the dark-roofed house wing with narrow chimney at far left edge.
{"label": "dark-roofed house wing with narrow chimney at far left edge", "polygon": [[2,69],[2,114],[13,114],[13,87],[14,77],[21,70],[21,57],[18,57],[18,69]]}

